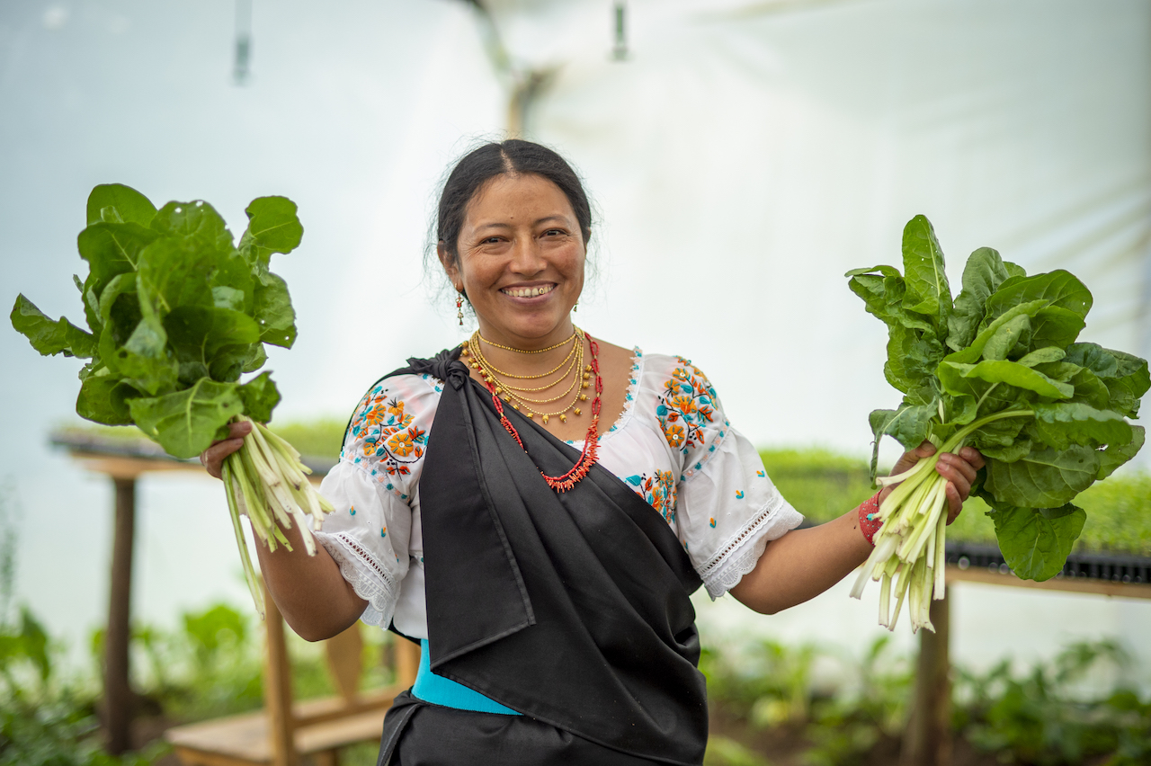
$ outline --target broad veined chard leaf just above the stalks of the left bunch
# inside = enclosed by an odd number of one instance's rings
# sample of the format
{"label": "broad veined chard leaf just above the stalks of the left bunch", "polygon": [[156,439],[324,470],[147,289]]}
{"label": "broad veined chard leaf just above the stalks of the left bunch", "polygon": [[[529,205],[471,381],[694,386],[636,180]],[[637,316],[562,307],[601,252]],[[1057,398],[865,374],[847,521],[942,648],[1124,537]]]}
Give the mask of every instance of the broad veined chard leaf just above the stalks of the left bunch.
{"label": "broad veined chard leaf just above the stalks of the left bunch", "polygon": [[128,406],[139,429],[168,454],[195,458],[224,436],[228,421],[243,411],[237,388],[201,377],[183,391],[131,399]]}

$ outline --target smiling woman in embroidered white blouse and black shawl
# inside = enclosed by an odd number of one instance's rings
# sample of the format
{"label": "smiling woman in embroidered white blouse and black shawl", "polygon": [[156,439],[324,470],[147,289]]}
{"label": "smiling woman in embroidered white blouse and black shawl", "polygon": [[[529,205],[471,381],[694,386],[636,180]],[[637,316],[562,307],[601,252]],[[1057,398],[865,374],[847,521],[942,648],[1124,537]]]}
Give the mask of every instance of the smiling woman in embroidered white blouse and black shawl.
{"label": "smiling woman in embroidered white blouse and black shawl", "polygon": [[[688,595],[702,584],[771,614],[871,550],[860,510],[788,531],[800,514],[699,368],[572,324],[590,232],[580,182],[550,150],[465,156],[441,196],[437,255],[460,323],[467,300],[479,330],[368,390],[323,481],[336,511],[318,556],[259,549],[305,638],[363,619],[421,642],[382,764],[699,764]],[[244,432],[204,453],[213,475]],[[942,457],[952,518],[982,462]]]}

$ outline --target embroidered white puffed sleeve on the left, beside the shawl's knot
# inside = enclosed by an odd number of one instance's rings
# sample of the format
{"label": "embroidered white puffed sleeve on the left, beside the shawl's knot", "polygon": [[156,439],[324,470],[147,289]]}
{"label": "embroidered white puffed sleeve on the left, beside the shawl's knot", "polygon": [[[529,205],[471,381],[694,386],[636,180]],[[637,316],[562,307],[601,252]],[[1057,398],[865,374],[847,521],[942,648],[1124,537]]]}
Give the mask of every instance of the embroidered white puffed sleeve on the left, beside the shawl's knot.
{"label": "embroidered white puffed sleeve on the left, beside the shawl's knot", "polygon": [[411,500],[440,401],[437,388],[416,375],[373,385],[352,415],[340,462],[320,485],[335,511],[317,538],[368,602],[360,618],[368,625],[388,627],[407,574]]}

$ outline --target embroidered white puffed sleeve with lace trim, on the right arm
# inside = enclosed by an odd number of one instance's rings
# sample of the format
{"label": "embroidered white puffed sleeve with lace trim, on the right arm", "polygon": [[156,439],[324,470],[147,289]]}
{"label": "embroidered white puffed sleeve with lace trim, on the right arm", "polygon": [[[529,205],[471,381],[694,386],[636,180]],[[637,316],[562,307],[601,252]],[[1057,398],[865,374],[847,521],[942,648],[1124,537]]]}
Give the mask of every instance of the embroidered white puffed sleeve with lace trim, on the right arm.
{"label": "embroidered white puffed sleeve with lace trim, on the right arm", "polygon": [[803,516],[779,493],[752,443],[732,428],[707,376],[676,358],[656,414],[681,469],[676,523],[715,599],[755,568],[770,541]]}

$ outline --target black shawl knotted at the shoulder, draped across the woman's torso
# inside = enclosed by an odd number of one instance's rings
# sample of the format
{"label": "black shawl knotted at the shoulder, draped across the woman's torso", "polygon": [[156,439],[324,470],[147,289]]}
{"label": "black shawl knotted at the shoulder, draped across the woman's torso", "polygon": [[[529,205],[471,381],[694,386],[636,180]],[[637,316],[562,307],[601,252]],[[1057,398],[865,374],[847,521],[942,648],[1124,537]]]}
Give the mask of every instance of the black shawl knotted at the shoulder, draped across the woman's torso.
{"label": "black shawl knotted at the shoulder, draped across the woman's torso", "polygon": [[701,763],[701,582],[683,545],[599,465],[549,488],[540,469],[564,474],[579,452],[509,408],[520,449],[458,355],[394,373],[445,383],[420,477],[432,668],[592,742]]}

